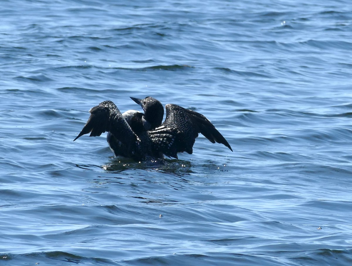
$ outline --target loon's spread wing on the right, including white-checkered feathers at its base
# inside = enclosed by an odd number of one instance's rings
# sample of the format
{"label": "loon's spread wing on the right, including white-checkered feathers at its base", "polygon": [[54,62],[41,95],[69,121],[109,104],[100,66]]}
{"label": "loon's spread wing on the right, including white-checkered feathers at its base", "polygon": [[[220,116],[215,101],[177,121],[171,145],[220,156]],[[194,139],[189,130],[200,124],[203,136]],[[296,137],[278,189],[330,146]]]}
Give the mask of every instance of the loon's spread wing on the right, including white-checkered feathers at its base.
{"label": "loon's spread wing on the right, including white-checkered feathers at its base", "polygon": [[164,123],[148,133],[155,147],[166,156],[177,159],[178,152],[191,154],[199,133],[212,143],[224,144],[232,151],[230,144],[204,115],[176,104],[166,104],[165,108]]}

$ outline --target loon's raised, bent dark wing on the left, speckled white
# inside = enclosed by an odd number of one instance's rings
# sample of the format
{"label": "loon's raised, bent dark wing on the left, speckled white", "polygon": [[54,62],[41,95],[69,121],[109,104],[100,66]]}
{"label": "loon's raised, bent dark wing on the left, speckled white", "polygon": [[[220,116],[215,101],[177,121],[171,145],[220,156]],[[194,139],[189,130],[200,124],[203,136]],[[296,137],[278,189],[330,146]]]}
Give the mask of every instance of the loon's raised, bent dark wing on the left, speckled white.
{"label": "loon's raised, bent dark wing on the left, speckled white", "polygon": [[110,132],[126,147],[127,154],[137,155],[140,140],[112,101],[101,102],[90,109],[89,113],[86,125],[74,141],[84,134],[90,133],[90,137],[95,137],[104,132]]}

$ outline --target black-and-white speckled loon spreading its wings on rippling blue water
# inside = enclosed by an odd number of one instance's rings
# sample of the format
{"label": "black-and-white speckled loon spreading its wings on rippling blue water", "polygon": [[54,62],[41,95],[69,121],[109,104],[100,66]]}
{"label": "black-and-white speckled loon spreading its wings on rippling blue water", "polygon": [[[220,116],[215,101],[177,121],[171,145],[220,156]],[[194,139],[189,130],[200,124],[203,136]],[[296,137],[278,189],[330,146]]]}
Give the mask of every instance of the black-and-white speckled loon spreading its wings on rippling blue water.
{"label": "black-and-white speckled loon spreading its wings on rippling blue water", "polygon": [[224,144],[232,148],[214,125],[202,114],[183,108],[176,104],[164,107],[152,97],[137,99],[144,113],[128,110],[121,114],[112,101],[103,101],[89,110],[90,116],[82,131],[74,139],[90,133],[90,137],[107,134],[107,142],[116,156],[145,160],[176,158],[177,153],[193,153],[193,145],[201,133],[210,142]]}

